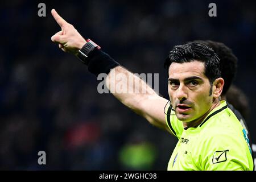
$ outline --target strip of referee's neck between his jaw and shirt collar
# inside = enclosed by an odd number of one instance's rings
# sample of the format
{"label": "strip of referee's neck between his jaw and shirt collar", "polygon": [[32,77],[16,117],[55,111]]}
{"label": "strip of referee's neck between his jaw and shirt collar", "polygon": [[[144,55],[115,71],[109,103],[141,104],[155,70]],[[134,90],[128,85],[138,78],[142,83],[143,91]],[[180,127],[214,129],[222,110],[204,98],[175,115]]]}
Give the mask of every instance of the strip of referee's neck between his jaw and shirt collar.
{"label": "strip of referee's neck between his jaw and shirt collar", "polygon": [[210,107],[210,109],[204,114],[202,115],[201,117],[193,120],[193,121],[190,121],[190,122],[185,122],[183,121],[183,127],[185,130],[187,130],[189,127],[197,127],[201,124],[201,122],[204,121],[205,117],[207,117],[207,115],[210,113],[210,111],[212,111],[214,108],[218,107],[220,105],[220,100],[218,98],[216,98],[214,101],[213,101],[213,104],[212,106]]}

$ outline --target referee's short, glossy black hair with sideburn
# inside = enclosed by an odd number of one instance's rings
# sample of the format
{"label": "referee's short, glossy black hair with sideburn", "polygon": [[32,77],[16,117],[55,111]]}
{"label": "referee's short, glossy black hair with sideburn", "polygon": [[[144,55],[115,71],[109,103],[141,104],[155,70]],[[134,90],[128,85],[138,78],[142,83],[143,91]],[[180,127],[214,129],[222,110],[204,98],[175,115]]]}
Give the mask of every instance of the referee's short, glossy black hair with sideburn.
{"label": "referee's short, glossy black hair with sideburn", "polygon": [[195,60],[204,63],[204,75],[211,84],[221,76],[220,59],[217,54],[212,48],[196,42],[175,46],[164,62],[164,67],[168,69],[172,63],[189,63]]}

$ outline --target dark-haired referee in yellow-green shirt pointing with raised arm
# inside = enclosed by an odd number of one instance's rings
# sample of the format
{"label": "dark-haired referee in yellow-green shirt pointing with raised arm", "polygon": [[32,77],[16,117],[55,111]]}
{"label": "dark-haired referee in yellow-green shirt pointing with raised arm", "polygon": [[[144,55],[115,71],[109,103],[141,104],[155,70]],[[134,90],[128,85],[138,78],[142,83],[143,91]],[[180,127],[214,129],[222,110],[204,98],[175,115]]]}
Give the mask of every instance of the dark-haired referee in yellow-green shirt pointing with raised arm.
{"label": "dark-haired referee in yellow-green shirt pointing with raised arm", "polygon": [[[168,102],[92,40],[85,40],[55,10],[52,15],[61,27],[52,36],[53,42],[79,57],[94,75],[108,74],[105,79],[108,89],[122,104],[179,139],[168,170],[253,170],[245,129],[226,102],[220,100],[224,79],[220,77],[220,60],[213,49],[200,43],[172,49],[164,64],[169,75]],[[120,83],[118,74],[134,81]],[[117,84],[138,92],[115,92]],[[166,103],[170,106],[164,109]]]}

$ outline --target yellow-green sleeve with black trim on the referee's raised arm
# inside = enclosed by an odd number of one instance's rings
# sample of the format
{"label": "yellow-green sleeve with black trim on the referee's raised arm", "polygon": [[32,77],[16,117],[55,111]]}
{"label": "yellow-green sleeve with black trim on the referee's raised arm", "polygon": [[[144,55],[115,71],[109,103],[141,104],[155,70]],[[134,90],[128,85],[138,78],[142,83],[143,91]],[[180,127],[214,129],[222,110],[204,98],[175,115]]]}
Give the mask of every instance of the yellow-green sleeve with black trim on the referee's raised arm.
{"label": "yellow-green sleeve with black trim on the referee's raised arm", "polygon": [[177,119],[175,112],[172,110],[171,106],[168,107],[166,114],[166,123],[168,128],[171,130],[178,139],[183,132],[183,123]]}

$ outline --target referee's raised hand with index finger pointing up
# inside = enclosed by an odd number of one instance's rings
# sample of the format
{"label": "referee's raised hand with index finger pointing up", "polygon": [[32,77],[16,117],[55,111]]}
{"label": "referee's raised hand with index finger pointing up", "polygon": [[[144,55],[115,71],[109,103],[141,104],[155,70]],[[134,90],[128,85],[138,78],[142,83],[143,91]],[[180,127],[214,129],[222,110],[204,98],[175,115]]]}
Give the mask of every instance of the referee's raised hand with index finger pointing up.
{"label": "referee's raised hand with index finger pointing up", "polygon": [[66,22],[55,9],[51,11],[53,18],[61,27],[61,31],[52,36],[52,42],[59,43],[59,48],[64,52],[70,52],[77,55],[78,51],[84,46],[86,40],[79,34],[76,28]]}

